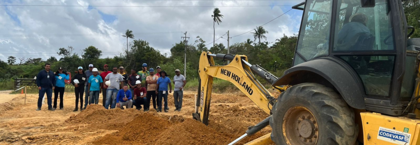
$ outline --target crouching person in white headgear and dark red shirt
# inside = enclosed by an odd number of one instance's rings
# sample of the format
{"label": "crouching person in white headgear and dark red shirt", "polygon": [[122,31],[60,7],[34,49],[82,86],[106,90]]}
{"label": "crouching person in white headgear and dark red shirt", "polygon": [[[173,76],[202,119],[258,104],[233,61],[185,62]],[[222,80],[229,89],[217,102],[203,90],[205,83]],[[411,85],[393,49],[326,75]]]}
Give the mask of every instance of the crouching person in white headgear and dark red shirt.
{"label": "crouching person in white headgear and dark red shirt", "polygon": [[140,80],[136,81],[136,86],[137,86],[137,88],[134,89],[133,104],[134,104],[134,106],[136,106],[136,109],[138,109],[138,110],[140,110],[141,105],[143,105],[143,111],[148,111],[150,102],[147,102],[146,88],[141,87],[141,81]]}

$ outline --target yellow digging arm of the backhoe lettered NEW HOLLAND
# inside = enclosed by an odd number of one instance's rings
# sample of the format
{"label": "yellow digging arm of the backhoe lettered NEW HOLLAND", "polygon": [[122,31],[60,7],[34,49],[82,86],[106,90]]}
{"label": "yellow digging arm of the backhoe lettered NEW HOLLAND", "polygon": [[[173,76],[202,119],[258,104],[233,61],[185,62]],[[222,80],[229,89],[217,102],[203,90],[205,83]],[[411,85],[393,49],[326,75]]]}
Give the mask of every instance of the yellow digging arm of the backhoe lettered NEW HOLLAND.
{"label": "yellow digging arm of the backhoe lettered NEW HOLLAND", "polygon": [[[231,62],[225,66],[215,66],[214,57],[231,60]],[[246,61],[247,57],[245,55],[201,53],[198,69],[199,95],[196,98],[197,107],[195,113],[193,113],[194,119],[208,125],[213,77],[231,82],[260,109],[267,114],[271,114],[271,107],[274,104],[275,98],[260,84],[252,73],[265,70],[258,68],[259,66],[250,65]],[[255,67],[255,69],[251,70],[252,67]],[[264,79],[271,80],[276,78],[271,73],[268,72],[268,74],[265,72],[261,72],[261,74],[266,76]]]}

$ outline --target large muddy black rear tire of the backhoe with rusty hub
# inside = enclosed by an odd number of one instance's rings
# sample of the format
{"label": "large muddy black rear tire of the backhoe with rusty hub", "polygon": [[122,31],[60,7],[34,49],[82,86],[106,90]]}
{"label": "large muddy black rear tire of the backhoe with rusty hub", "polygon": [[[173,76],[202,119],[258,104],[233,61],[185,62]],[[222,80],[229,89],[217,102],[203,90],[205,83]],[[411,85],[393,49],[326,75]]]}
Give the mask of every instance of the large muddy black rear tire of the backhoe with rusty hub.
{"label": "large muddy black rear tire of the backhoe with rusty hub", "polygon": [[359,133],[353,109],[333,89],[317,83],[287,89],[272,111],[276,145],[355,145]]}

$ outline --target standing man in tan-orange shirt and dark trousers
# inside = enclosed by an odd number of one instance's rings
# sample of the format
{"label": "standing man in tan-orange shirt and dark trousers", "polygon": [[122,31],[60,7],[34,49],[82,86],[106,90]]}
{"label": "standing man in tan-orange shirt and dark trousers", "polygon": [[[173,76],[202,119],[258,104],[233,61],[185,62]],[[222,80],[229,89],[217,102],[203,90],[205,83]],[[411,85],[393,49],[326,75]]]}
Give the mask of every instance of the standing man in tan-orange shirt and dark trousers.
{"label": "standing man in tan-orange shirt and dark trousers", "polygon": [[[147,102],[149,103],[150,107],[150,100],[153,99],[153,109],[156,109],[156,105],[158,104],[157,99],[156,99],[156,89],[157,89],[157,82],[159,79],[158,75],[155,75],[155,70],[153,70],[153,68],[150,68],[149,70],[150,75],[146,77],[146,83],[147,83]],[[150,108],[149,108],[150,109]]]}

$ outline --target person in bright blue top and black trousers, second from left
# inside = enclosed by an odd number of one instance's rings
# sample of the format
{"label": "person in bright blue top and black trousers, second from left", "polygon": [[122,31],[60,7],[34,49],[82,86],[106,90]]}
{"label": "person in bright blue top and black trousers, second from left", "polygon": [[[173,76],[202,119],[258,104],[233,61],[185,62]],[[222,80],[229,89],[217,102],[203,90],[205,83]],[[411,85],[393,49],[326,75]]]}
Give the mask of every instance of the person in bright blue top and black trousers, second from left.
{"label": "person in bright blue top and black trousers, second from left", "polygon": [[64,95],[64,88],[65,88],[65,81],[64,79],[68,80],[69,75],[67,72],[63,72],[63,68],[60,68],[59,71],[55,72],[56,74],[56,88],[54,89],[54,106],[53,109],[57,109],[57,99],[60,93],[60,110],[63,109],[63,95]]}

